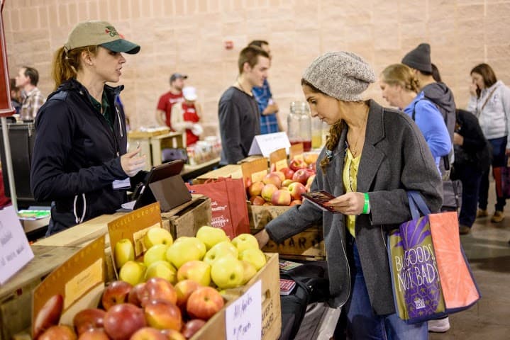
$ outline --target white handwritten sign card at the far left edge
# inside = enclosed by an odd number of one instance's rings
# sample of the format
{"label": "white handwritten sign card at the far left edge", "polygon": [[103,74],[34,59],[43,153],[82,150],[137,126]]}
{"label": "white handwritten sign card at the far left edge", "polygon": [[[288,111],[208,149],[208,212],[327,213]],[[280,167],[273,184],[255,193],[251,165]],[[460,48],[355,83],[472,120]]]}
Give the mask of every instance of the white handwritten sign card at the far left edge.
{"label": "white handwritten sign card at the far left edge", "polygon": [[0,210],[0,285],[33,259],[33,251],[13,206]]}

